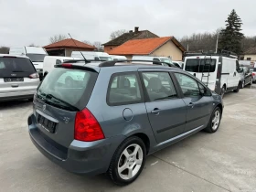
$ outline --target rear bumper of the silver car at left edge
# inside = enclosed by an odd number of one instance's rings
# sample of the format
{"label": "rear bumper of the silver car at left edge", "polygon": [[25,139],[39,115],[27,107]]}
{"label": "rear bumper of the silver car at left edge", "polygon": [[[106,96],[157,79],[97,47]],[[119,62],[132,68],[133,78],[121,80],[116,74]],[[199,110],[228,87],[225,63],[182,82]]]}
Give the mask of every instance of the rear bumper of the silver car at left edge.
{"label": "rear bumper of the silver car at left edge", "polygon": [[0,101],[23,100],[33,98],[35,91],[16,91],[0,93]]}

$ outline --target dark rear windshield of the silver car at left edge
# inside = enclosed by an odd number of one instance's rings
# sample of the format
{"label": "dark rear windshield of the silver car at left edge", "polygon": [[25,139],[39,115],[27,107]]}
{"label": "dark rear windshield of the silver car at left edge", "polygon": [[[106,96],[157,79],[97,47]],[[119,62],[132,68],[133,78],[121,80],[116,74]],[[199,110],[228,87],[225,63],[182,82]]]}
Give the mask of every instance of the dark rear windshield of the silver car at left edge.
{"label": "dark rear windshield of the silver car at left edge", "polygon": [[27,58],[0,58],[0,77],[7,77],[13,73],[26,73],[28,76],[35,72],[36,69]]}

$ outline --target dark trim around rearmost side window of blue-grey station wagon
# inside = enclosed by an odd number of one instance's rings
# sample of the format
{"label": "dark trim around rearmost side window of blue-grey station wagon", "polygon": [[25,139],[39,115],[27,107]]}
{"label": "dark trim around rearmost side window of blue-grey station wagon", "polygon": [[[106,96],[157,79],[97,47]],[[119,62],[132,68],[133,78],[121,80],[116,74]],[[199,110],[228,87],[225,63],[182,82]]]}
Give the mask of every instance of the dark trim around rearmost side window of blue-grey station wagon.
{"label": "dark trim around rearmost side window of blue-grey station wagon", "polygon": [[[116,76],[122,76],[122,75],[135,75],[135,77],[137,79],[137,82],[138,82],[139,91],[140,91],[140,94],[141,94],[141,100],[140,101],[127,101],[127,102],[116,102],[116,103],[111,103],[110,102],[110,91],[111,91],[111,87],[112,87],[112,80]],[[118,80],[117,80],[117,85],[119,83],[118,81],[119,81],[119,77],[118,77]],[[136,104],[136,103],[144,102],[144,91],[143,91],[143,88],[142,88],[142,83],[141,83],[141,79],[140,79],[140,76],[138,74],[138,71],[113,73],[110,80],[109,80],[109,83],[108,83],[108,91],[107,91],[107,95],[106,95],[106,102],[109,106],[123,106],[123,105],[129,105],[129,104]]]}

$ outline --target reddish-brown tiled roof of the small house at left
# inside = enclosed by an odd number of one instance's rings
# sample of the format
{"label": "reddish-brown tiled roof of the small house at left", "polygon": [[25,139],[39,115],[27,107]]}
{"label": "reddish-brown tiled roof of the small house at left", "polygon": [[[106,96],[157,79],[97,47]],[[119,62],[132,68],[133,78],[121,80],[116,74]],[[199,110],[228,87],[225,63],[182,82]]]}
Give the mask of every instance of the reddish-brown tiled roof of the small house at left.
{"label": "reddish-brown tiled roof of the small house at left", "polygon": [[[75,45],[74,41],[75,41],[76,45]],[[48,48],[86,48],[86,49],[92,49],[92,50],[95,49],[95,47],[93,47],[91,45],[80,42],[76,39],[72,40],[71,38],[67,38],[67,39],[61,40],[59,42],[50,44],[48,46],[45,46],[44,48],[46,48],[46,49],[48,49]]]}

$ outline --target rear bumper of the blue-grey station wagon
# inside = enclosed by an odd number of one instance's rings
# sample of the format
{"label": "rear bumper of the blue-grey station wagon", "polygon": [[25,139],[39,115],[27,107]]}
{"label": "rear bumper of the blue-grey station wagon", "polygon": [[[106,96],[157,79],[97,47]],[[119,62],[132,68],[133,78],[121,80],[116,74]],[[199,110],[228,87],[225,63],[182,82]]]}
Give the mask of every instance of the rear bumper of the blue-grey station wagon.
{"label": "rear bumper of the blue-grey station wagon", "polygon": [[27,122],[30,138],[37,149],[49,160],[75,174],[94,176],[105,173],[116,148],[125,139],[124,136],[115,136],[96,142],[73,140],[66,148],[39,131],[34,114]]}

